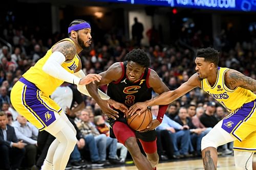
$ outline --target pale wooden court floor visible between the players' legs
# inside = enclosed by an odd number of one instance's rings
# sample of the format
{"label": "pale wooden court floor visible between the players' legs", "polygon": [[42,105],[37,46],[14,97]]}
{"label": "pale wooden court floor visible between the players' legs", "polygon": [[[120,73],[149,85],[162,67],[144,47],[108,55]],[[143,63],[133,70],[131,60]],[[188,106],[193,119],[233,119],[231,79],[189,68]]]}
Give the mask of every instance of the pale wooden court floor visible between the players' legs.
{"label": "pale wooden court floor visible between the players' legs", "polygon": [[[255,158],[254,158],[255,161]],[[136,166],[121,166],[114,168],[101,168],[104,170],[136,170]],[[203,169],[202,159],[184,160],[184,161],[171,161],[159,163],[157,170],[199,170]],[[234,169],[234,158],[233,156],[220,157],[218,159],[218,170],[233,170]]]}

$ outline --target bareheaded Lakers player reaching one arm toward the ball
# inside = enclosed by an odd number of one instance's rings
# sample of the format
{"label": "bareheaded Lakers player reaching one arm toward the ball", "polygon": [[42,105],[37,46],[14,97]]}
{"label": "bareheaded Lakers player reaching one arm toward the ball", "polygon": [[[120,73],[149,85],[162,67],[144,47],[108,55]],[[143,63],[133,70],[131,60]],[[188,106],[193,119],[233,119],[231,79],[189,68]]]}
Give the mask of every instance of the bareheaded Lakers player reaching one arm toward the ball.
{"label": "bareheaded Lakers player reaching one arm toward the ball", "polygon": [[216,99],[229,112],[205,137],[202,158],[205,169],[217,168],[217,147],[234,141],[235,164],[238,169],[252,169],[252,156],[256,150],[256,80],[237,70],[218,67],[219,53],[213,48],[197,50],[196,71],[189,80],[174,91],[132,106],[128,114],[148,106],[166,105],[195,87],[200,87]]}

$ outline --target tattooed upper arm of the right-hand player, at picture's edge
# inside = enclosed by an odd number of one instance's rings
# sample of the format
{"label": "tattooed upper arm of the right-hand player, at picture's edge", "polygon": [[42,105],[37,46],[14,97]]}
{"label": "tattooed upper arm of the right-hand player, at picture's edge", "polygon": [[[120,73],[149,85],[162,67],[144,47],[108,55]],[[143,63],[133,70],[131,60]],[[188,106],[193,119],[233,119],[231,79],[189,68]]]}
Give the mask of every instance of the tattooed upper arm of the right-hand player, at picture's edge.
{"label": "tattooed upper arm of the right-hand player, at picture's edge", "polygon": [[230,69],[225,74],[225,85],[233,90],[237,86],[256,91],[256,80],[243,75],[237,70]]}

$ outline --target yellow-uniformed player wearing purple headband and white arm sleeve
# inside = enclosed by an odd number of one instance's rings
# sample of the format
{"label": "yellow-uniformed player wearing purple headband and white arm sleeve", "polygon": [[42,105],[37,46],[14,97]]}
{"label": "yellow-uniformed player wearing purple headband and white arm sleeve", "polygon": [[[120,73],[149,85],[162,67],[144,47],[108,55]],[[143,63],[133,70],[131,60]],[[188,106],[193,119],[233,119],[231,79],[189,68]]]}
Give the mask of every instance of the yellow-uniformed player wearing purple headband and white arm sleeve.
{"label": "yellow-uniformed player wearing purple headband and white arm sleeve", "polygon": [[[77,55],[91,44],[91,27],[84,20],[74,20],[69,29],[69,38],[57,42],[47,54],[38,60],[11,90],[11,103],[16,111],[26,117],[40,131],[46,130],[56,137],[52,142],[42,170],[65,169],[70,153],[76,144],[76,131],[61,108],[49,98],[64,81],[82,85],[100,81],[97,74],[84,75],[81,60]],[[101,95],[102,92],[100,92]],[[104,95],[104,99],[109,99]],[[109,100],[108,100],[109,101]],[[110,107],[105,112],[114,112]]]}

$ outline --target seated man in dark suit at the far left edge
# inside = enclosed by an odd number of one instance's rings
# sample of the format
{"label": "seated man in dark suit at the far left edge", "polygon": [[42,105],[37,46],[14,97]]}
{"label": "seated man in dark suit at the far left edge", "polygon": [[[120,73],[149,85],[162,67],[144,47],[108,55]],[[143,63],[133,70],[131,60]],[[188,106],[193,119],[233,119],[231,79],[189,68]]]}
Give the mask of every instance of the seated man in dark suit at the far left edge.
{"label": "seated man in dark suit at the far left edge", "polygon": [[25,155],[25,143],[18,141],[3,111],[0,112],[0,128],[0,169],[19,169]]}

